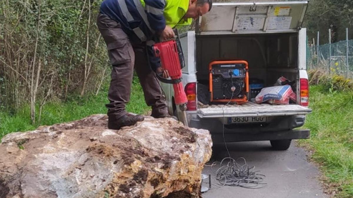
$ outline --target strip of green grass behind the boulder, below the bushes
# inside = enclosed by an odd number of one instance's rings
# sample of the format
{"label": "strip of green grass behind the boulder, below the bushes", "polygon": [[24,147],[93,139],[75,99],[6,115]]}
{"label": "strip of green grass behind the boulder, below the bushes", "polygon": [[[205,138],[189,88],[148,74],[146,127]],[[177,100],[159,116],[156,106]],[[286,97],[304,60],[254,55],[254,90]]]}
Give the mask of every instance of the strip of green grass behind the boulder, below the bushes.
{"label": "strip of green grass behind the boulder, below the bushes", "polygon": [[[101,88],[97,96],[70,97],[65,103],[47,103],[43,107],[41,122],[35,125],[31,124],[29,105],[25,105],[14,115],[0,112],[0,140],[8,133],[34,130],[39,125],[53,125],[56,123],[71,122],[93,114],[106,114],[107,108],[105,104],[108,102],[108,84],[109,83],[106,83]],[[145,113],[148,107],[145,104],[143,91],[137,78],[134,78],[131,93],[127,111]],[[39,111],[37,110],[37,112]]]}

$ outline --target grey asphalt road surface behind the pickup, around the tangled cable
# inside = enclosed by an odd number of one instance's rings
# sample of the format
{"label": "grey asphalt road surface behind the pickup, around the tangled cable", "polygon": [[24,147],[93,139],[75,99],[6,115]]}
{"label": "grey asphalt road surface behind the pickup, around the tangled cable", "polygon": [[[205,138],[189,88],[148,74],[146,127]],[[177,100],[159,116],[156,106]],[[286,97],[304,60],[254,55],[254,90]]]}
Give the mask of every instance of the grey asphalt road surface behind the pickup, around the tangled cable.
{"label": "grey asphalt road surface behind the pickup, around the tangled cable", "polygon": [[[307,162],[306,151],[292,142],[287,151],[274,151],[269,141],[228,143],[234,159],[244,157],[255,171],[266,175],[267,185],[259,189],[241,187],[216,187],[202,194],[204,198],[316,198],[328,197],[323,193],[318,177],[318,169]],[[211,162],[227,157],[223,144],[213,148]],[[211,174],[210,167],[205,167],[205,174]],[[208,181],[208,180],[207,180]],[[215,184],[215,180],[212,180]],[[208,186],[208,184],[204,184]]]}

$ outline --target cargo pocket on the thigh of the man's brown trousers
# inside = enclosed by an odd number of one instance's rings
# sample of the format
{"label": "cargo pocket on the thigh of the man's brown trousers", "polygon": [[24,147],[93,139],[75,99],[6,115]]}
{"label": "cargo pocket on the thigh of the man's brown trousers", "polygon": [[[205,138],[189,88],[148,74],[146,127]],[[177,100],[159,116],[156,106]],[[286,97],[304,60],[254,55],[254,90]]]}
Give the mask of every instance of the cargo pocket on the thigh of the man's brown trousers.
{"label": "cargo pocket on the thigh of the man's brown trousers", "polygon": [[112,65],[131,62],[129,43],[127,42],[127,40],[122,39],[114,43],[109,43],[108,55],[110,59],[110,64]]}

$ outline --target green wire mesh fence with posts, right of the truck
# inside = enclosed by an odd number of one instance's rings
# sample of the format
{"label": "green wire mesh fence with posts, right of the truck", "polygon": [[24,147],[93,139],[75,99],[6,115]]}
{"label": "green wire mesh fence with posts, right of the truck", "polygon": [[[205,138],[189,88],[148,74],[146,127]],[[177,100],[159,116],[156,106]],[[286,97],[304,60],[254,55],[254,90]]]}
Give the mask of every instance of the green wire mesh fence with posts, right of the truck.
{"label": "green wire mesh fence with posts, right of the truck", "polygon": [[307,67],[353,78],[353,40],[307,45]]}

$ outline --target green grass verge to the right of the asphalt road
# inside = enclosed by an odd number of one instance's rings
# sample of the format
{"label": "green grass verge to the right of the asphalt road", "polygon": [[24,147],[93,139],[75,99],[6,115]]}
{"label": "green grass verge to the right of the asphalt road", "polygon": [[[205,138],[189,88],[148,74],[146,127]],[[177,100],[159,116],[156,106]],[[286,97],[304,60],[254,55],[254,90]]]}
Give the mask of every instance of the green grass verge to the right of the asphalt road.
{"label": "green grass verge to the right of the asphalt road", "polygon": [[[336,197],[353,197],[353,93],[330,92],[312,86],[305,128],[311,139],[299,143],[313,150],[312,160],[337,192]],[[332,189],[331,189],[332,190]]]}

